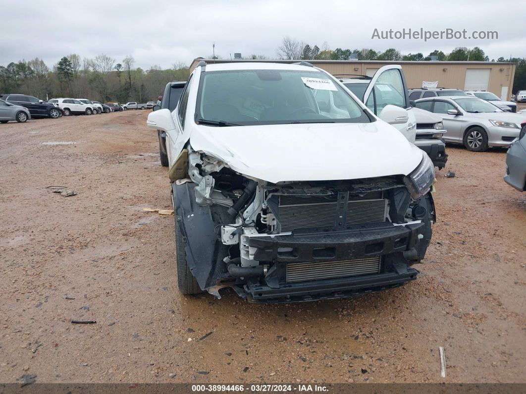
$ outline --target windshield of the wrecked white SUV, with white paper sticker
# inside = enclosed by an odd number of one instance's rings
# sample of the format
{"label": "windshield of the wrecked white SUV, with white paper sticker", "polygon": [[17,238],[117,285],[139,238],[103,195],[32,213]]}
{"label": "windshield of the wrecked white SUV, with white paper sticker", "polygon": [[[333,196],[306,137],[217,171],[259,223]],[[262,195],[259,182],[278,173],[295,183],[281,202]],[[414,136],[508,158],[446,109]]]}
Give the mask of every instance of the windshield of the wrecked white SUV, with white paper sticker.
{"label": "windshield of the wrecked white SUV, with white paper sticker", "polygon": [[249,126],[369,123],[371,119],[325,73],[228,70],[203,74],[196,122],[211,126]]}

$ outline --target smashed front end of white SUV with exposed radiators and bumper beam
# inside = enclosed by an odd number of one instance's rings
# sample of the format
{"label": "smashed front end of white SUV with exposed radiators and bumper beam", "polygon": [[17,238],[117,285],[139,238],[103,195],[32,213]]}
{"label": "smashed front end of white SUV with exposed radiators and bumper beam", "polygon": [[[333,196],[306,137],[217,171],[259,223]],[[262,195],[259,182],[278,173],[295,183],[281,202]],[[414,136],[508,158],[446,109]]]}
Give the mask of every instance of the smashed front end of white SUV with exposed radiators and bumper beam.
{"label": "smashed front end of white SUV with exposed radiators and bumper beam", "polygon": [[271,184],[187,148],[173,198],[186,264],[201,289],[293,302],[416,279],[411,266],[424,257],[436,218],[429,188],[419,194],[411,177]]}

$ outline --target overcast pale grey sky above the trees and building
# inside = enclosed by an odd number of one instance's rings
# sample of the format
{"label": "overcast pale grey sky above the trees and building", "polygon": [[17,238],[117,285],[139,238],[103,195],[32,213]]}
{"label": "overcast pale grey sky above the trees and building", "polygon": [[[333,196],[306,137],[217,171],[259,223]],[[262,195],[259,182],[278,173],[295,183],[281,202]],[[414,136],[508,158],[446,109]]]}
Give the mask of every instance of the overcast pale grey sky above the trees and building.
{"label": "overcast pale grey sky above the trees and building", "polygon": [[[104,53],[122,62],[131,54],[136,66],[149,68],[234,52],[276,57],[283,36],[331,49],[341,47],[402,53],[457,46],[481,47],[492,58],[526,57],[522,28],[526,2],[491,1],[163,1],[21,2],[0,0],[4,36],[0,65],[34,57],[49,67],[60,57]],[[141,4],[141,5],[139,5]],[[440,31],[446,28],[498,31],[496,40],[371,39],[375,28]]]}

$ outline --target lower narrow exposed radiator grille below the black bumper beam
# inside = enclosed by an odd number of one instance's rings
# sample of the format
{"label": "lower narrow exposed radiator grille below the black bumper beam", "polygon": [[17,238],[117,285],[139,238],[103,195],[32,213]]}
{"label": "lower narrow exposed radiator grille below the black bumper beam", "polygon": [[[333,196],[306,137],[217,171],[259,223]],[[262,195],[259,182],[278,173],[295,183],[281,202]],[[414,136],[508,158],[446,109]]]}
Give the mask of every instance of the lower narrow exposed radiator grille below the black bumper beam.
{"label": "lower narrow exposed radiator grille below the black bumper beam", "polygon": [[292,262],[287,264],[287,282],[378,274],[380,259],[381,256],[348,261]]}

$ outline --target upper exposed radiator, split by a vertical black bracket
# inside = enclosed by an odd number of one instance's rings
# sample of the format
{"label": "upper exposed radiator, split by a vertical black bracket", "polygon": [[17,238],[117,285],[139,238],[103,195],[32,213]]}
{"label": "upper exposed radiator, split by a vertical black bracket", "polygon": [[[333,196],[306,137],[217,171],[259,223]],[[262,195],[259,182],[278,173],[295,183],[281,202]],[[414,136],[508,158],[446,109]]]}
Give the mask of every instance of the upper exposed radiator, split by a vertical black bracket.
{"label": "upper exposed radiator, split by a vertical black bracket", "polygon": [[[382,197],[381,191],[349,197],[347,207],[342,207],[346,210],[346,225],[385,221],[387,199]],[[336,196],[280,196],[278,221],[281,231],[336,226],[338,199]]]}

